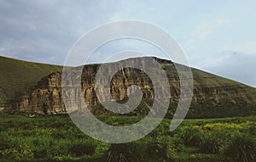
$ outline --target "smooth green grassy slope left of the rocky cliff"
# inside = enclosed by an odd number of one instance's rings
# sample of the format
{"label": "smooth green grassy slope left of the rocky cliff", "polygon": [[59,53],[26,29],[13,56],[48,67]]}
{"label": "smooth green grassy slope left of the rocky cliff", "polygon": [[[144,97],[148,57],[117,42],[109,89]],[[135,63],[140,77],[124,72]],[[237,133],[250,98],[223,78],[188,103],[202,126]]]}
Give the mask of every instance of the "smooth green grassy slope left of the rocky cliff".
{"label": "smooth green grassy slope left of the rocky cliff", "polygon": [[0,108],[27,94],[44,75],[61,70],[62,66],[38,64],[0,56]]}

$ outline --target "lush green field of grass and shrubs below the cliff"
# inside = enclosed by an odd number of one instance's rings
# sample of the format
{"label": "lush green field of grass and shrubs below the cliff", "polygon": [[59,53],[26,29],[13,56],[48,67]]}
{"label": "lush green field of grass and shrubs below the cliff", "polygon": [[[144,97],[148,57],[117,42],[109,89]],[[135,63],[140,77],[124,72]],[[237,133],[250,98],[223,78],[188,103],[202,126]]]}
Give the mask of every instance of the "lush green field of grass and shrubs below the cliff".
{"label": "lush green field of grass and shrubs below the cliff", "polygon": [[[98,116],[114,126],[135,116]],[[86,136],[68,115],[0,113],[0,161],[255,161],[256,117],[163,120],[135,142],[110,144]]]}

